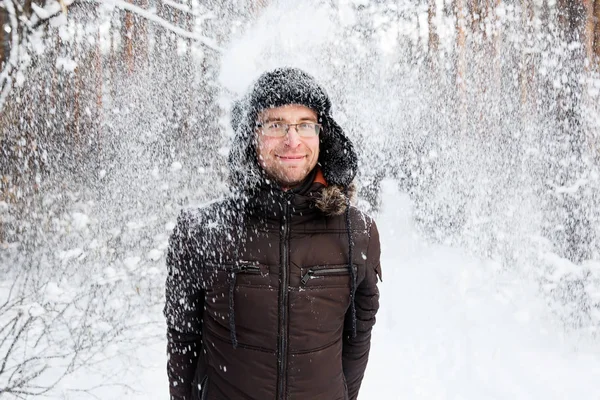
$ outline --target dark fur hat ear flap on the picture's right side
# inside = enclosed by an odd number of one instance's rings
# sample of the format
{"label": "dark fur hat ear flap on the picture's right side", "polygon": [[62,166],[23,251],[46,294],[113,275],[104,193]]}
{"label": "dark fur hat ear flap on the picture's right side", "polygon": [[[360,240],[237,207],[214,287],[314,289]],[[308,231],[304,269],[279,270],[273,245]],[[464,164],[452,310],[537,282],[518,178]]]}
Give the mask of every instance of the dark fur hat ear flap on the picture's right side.
{"label": "dark fur hat ear flap on the picture's right side", "polygon": [[328,184],[348,187],[358,168],[358,157],[352,142],[330,117],[323,118],[319,164]]}

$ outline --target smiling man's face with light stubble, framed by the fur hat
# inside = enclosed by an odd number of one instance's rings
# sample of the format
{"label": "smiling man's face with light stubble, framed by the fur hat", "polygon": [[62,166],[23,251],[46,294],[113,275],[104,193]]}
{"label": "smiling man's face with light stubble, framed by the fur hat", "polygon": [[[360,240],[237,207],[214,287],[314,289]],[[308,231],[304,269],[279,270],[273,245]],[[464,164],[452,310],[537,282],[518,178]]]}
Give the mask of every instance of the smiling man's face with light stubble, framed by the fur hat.
{"label": "smiling man's face with light stubble, framed by the fur hat", "polygon": [[262,111],[257,122],[262,126],[256,130],[256,149],[261,167],[284,189],[297,186],[317,165],[319,136],[301,137],[296,130],[300,126],[291,126],[283,137],[268,136],[265,127],[273,122],[317,123],[317,113],[305,106],[286,105]]}

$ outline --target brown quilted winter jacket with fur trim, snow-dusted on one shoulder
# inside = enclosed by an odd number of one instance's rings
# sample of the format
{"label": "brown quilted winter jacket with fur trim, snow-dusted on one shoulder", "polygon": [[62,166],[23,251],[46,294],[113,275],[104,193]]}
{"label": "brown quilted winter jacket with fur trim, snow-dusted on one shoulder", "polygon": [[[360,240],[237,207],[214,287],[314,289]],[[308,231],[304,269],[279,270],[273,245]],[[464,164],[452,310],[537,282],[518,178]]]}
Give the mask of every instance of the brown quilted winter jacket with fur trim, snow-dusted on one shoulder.
{"label": "brown quilted winter jacket with fur trim, snow-dusted on one shoulder", "polygon": [[167,258],[171,399],[357,398],[380,246],[374,221],[346,204],[315,170],[295,190],[262,185],[180,215]]}

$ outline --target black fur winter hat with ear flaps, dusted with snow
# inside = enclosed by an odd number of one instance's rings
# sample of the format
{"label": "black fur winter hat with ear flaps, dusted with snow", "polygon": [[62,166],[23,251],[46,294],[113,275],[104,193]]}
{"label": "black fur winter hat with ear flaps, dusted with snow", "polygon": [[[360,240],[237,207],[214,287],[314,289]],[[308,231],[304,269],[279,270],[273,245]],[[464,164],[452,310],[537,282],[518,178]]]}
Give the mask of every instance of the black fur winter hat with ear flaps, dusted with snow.
{"label": "black fur winter hat with ear flaps, dusted with snow", "polygon": [[232,183],[255,187],[263,174],[256,159],[254,130],[259,113],[266,108],[300,104],[314,110],[323,124],[318,165],[329,185],[346,189],[357,172],[354,146],[331,116],[331,101],[315,79],[297,68],[278,68],[261,75],[250,91],[236,101],[231,112],[235,138],[229,152]]}

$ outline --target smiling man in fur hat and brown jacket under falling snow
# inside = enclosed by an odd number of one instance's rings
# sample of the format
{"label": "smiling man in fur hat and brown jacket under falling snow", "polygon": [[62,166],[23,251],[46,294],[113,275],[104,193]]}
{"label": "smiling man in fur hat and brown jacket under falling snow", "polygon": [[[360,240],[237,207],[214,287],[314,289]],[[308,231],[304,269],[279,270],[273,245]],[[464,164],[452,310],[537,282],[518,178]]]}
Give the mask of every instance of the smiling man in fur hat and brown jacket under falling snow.
{"label": "smiling man in fur hat and brown jacket under falling snow", "polygon": [[263,74],[232,114],[233,194],[170,239],[171,399],[356,399],[381,268],[350,206],[352,143],[298,69]]}

